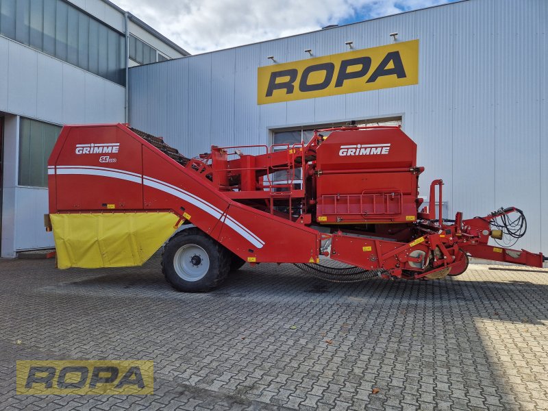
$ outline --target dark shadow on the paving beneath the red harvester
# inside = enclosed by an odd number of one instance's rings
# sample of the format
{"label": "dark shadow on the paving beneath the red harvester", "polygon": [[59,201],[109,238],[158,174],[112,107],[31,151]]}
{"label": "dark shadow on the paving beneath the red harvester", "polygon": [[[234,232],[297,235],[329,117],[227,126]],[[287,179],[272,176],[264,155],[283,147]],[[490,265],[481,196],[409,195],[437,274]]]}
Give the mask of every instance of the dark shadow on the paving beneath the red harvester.
{"label": "dark shadow on the paving beneath the red harvester", "polygon": [[[84,289],[92,292],[127,290],[186,299],[188,294],[177,292],[169,286],[158,263],[153,258],[144,266],[127,268],[123,273],[119,269],[106,269],[99,276],[77,279],[66,285],[70,284],[75,292]],[[260,264],[255,268],[244,266],[233,271],[219,288],[192,294],[192,298],[260,299],[265,292],[273,301],[290,299],[299,303],[321,298],[321,301],[338,306],[374,305],[378,301],[395,298],[414,307],[438,308],[481,303],[482,306],[493,307],[493,310],[478,309],[475,314],[479,318],[531,324],[548,321],[548,284],[502,277],[500,281],[470,279],[466,273],[460,277],[427,281],[373,278],[364,282],[335,283],[308,275],[292,264]],[[538,306],[540,301],[547,301],[545,310],[532,309],[526,316],[521,310],[516,310],[530,303]]]}

